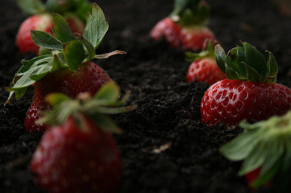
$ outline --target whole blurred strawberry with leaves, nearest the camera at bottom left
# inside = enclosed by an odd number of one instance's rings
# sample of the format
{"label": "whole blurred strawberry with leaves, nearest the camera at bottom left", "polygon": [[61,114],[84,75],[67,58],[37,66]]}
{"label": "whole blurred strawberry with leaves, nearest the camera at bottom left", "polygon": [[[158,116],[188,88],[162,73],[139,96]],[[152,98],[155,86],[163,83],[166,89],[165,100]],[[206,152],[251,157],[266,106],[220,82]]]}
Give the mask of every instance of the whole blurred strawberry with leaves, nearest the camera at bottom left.
{"label": "whole blurred strawberry with leaves, nearest the camera at bottom left", "polygon": [[37,185],[50,193],[118,191],[122,163],[112,133],[120,134],[121,130],[106,114],[135,108],[120,107],[130,93],[120,101],[119,95],[117,85],[108,83],[94,98],[88,93],[76,100],[61,93],[46,96],[54,108],[38,122],[51,126],[30,163]]}

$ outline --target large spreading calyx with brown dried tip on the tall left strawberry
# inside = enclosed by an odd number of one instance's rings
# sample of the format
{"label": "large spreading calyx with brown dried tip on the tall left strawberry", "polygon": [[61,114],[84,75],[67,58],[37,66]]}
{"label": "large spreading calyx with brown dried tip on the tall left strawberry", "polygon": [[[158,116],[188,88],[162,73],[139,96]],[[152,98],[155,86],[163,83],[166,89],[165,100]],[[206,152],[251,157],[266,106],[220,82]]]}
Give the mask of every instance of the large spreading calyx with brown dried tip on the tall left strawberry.
{"label": "large spreading calyx with brown dried tip on the tall left strawberry", "polygon": [[100,7],[94,3],[92,15],[87,13],[87,22],[83,35],[73,33],[63,16],[53,14],[53,35],[39,31],[30,30],[33,42],[45,49],[54,50],[54,54],[41,55],[31,60],[22,60],[23,66],[18,70],[10,87],[7,104],[15,92],[16,99],[21,98],[27,87],[40,80],[48,73],[61,68],[77,70],[81,63],[93,58],[103,59],[115,54],[126,54],[123,51],[114,51],[106,54],[96,55],[95,50],[100,45],[108,30],[108,23]]}

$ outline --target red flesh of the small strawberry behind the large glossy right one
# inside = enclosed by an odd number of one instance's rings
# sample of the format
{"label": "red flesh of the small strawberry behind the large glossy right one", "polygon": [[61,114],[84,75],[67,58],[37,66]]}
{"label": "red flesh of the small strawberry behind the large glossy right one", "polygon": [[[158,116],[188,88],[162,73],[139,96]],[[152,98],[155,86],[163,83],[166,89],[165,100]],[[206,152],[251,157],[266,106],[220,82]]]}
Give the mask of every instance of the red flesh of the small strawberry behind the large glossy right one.
{"label": "red flesh of the small strawberry behind the large glossy right one", "polygon": [[217,66],[215,58],[201,58],[191,63],[186,74],[188,82],[193,82],[196,78],[198,82],[214,84],[226,79],[226,75]]}

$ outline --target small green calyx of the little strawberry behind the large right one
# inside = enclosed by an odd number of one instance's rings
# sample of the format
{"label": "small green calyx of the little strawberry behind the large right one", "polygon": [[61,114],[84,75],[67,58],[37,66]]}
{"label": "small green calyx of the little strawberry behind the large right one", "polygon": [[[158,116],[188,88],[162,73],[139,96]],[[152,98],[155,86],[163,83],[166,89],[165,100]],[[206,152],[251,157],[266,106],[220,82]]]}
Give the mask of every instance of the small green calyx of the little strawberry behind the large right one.
{"label": "small green calyx of the little strawberry behind the large right one", "polygon": [[202,58],[215,58],[213,42],[210,39],[206,39],[201,52],[185,52],[185,55],[187,56],[186,60],[189,62]]}

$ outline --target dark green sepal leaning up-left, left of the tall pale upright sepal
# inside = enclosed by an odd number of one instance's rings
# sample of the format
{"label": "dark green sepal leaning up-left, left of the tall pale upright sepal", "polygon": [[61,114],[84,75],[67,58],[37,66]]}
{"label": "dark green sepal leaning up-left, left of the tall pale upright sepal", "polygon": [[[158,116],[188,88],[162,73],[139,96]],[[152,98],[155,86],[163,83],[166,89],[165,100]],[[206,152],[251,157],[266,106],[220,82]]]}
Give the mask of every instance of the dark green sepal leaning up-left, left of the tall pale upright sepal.
{"label": "dark green sepal leaning up-left, left of the tall pale upright sepal", "polygon": [[58,13],[53,14],[54,26],[52,28],[55,37],[63,44],[77,40],[75,34],[71,31],[65,18]]}

